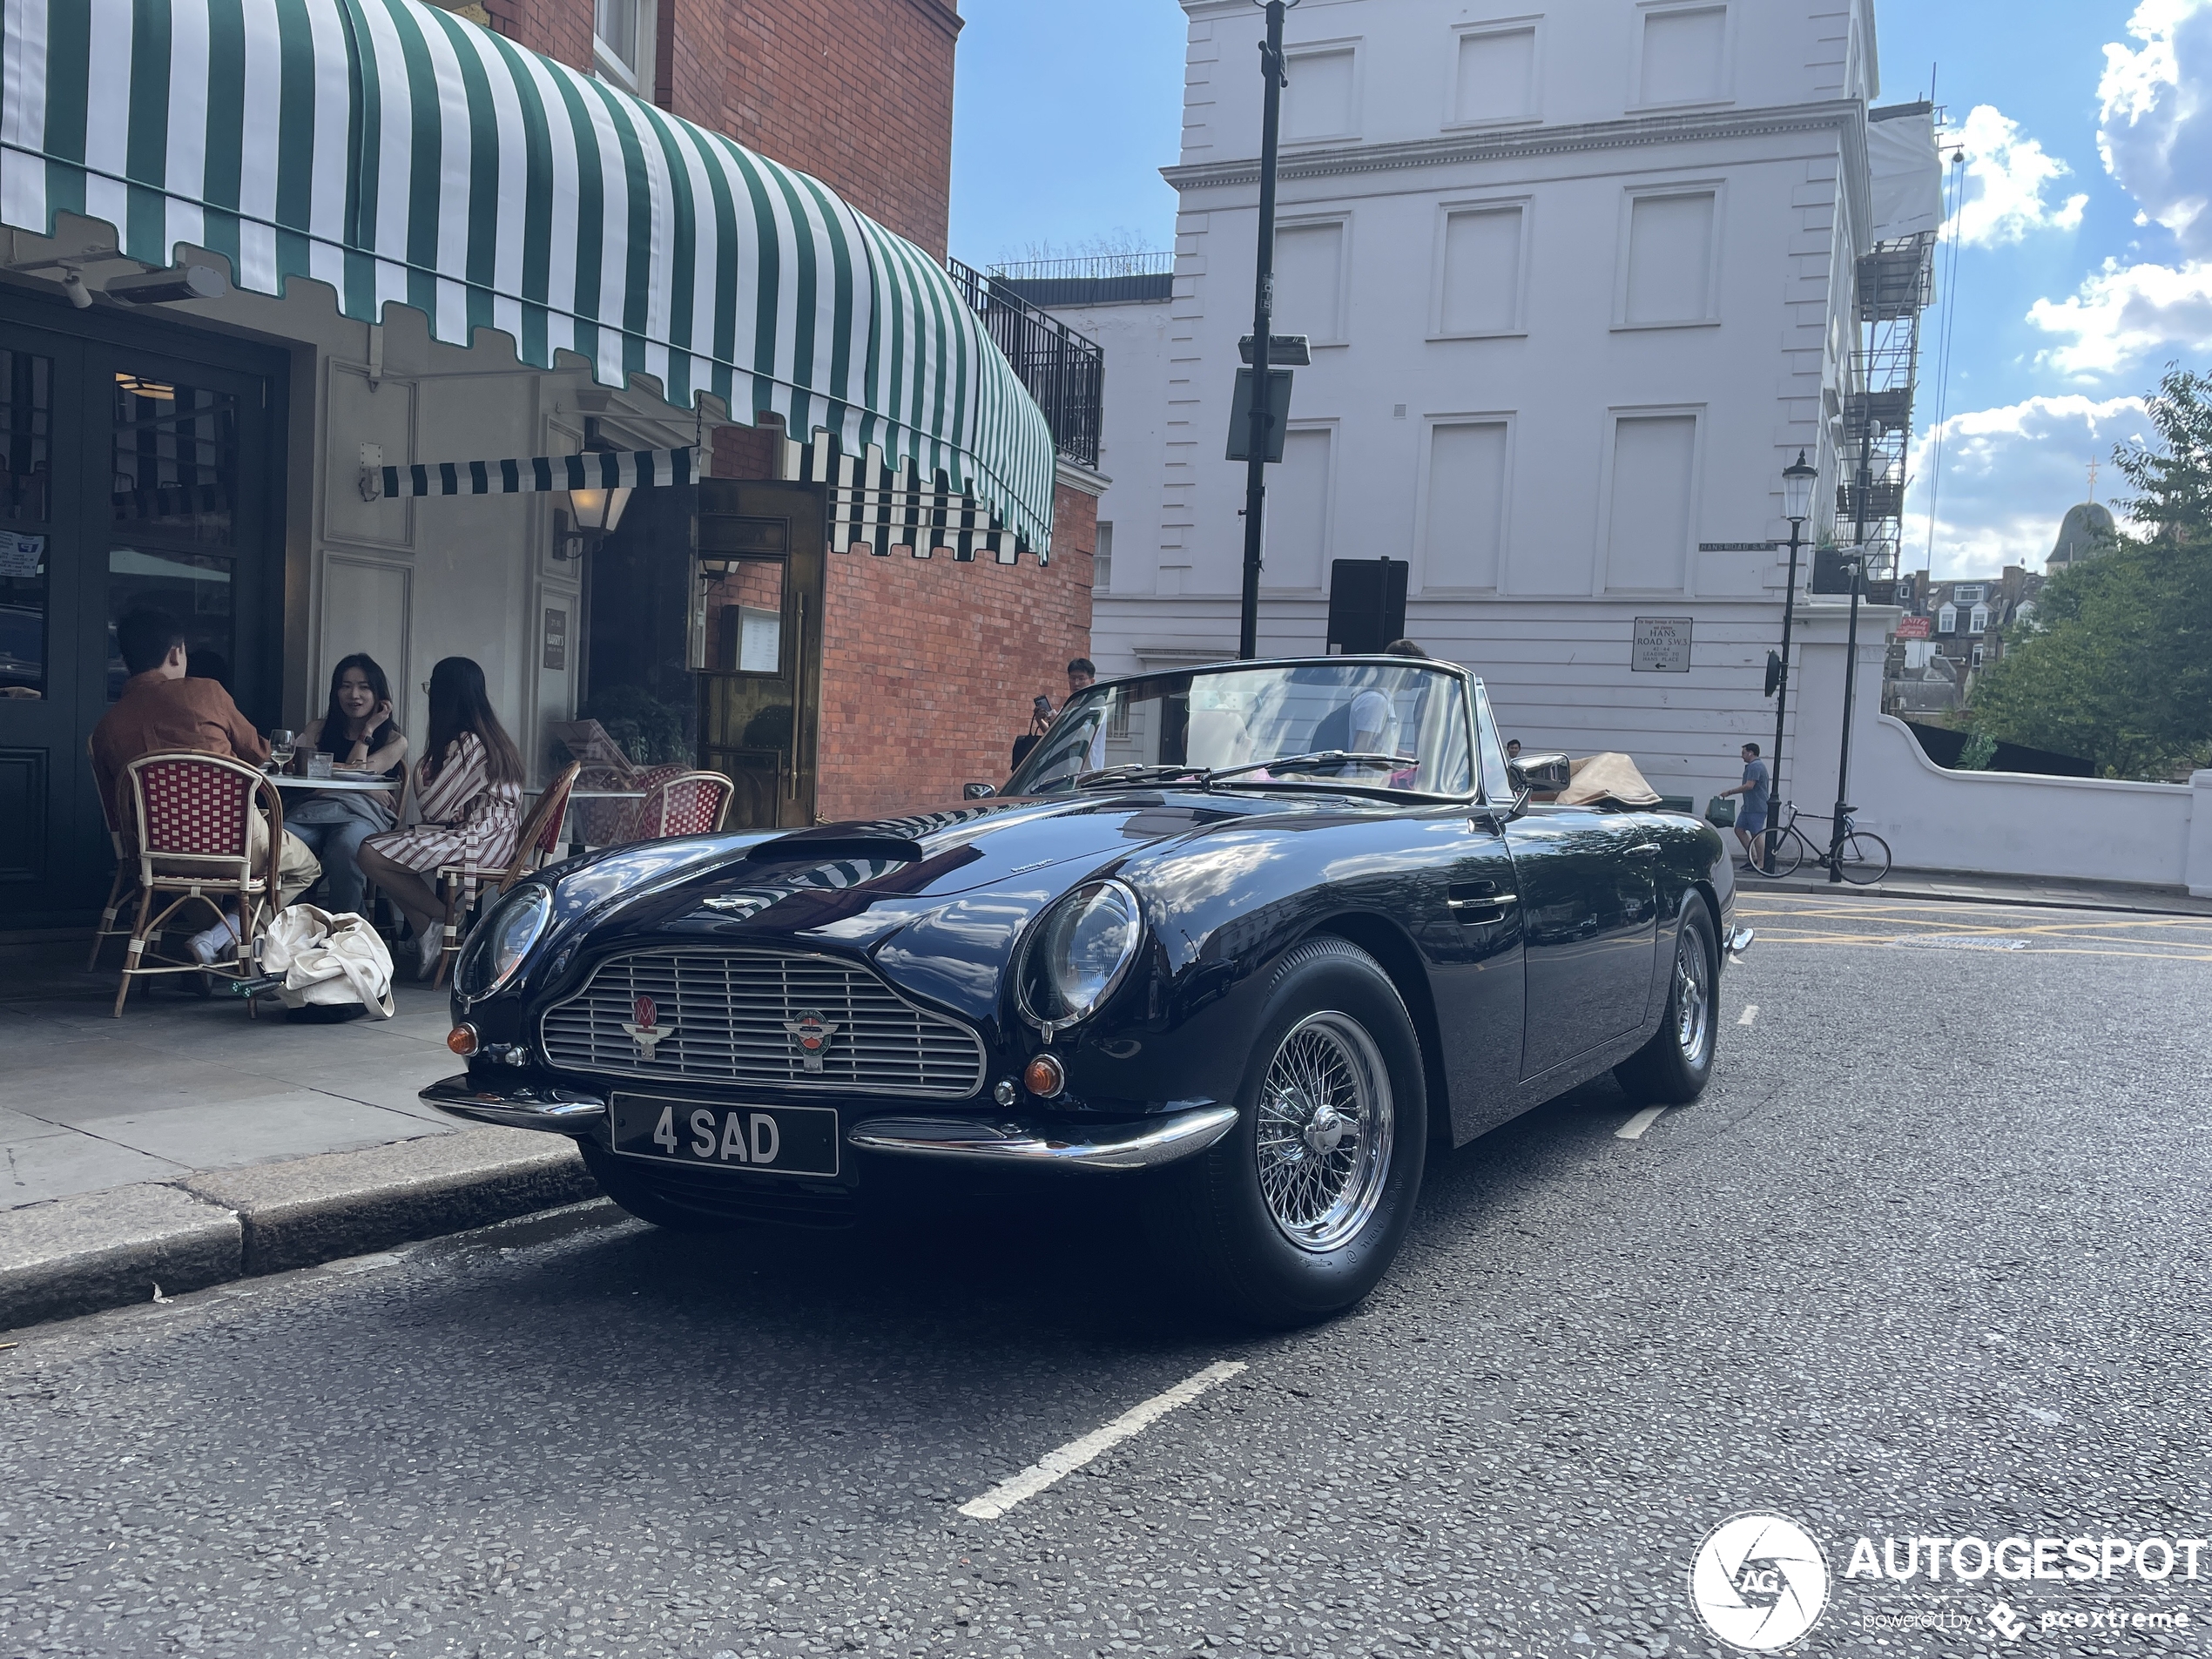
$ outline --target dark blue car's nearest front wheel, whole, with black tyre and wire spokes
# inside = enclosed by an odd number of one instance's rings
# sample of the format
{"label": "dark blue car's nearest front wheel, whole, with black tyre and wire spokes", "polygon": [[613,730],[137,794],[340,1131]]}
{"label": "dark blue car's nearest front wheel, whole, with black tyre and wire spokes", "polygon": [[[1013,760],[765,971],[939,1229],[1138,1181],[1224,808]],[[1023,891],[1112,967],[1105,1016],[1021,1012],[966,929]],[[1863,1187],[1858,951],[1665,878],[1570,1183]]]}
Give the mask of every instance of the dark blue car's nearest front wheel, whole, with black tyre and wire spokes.
{"label": "dark blue car's nearest front wheel, whole, with black tyre and wire spokes", "polygon": [[1294,945],[1270,975],[1234,1128],[1146,1192],[1166,1274],[1254,1325],[1340,1314],[1405,1243],[1427,1119],[1420,1040],[1383,967],[1349,940]]}

